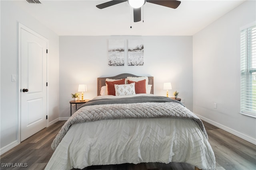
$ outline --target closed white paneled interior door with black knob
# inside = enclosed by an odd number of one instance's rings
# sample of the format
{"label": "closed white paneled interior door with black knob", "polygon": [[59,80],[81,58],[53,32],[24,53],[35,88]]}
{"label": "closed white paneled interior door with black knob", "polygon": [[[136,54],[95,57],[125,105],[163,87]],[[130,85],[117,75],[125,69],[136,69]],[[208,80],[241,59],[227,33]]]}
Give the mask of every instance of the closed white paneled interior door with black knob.
{"label": "closed white paneled interior door with black knob", "polygon": [[47,41],[21,28],[20,141],[46,127]]}

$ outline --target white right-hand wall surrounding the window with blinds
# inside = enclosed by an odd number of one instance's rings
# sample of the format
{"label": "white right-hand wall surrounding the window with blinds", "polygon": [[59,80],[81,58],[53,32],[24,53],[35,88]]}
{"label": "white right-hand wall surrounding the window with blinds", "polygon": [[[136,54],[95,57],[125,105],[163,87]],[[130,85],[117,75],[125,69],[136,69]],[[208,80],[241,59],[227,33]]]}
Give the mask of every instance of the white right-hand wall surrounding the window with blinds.
{"label": "white right-hand wall surrounding the window with blinds", "polygon": [[193,36],[194,113],[252,143],[256,119],[239,113],[240,28],[255,21],[256,1],[246,1]]}

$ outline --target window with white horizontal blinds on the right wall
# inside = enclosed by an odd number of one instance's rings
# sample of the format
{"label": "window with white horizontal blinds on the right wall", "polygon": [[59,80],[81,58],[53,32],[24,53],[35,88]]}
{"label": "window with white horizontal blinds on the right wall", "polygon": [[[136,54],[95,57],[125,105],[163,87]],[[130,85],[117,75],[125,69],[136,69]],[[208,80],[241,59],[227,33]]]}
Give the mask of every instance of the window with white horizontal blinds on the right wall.
{"label": "window with white horizontal blinds on the right wall", "polygon": [[241,113],[256,117],[256,26],[241,31]]}

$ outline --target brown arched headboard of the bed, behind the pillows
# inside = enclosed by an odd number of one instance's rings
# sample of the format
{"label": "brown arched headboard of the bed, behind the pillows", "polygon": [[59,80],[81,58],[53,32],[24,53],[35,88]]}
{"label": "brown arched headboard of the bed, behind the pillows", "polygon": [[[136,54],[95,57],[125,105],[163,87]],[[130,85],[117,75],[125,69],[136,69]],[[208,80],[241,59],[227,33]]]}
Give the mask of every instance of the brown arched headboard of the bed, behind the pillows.
{"label": "brown arched headboard of the bed, behind the pillows", "polygon": [[[127,77],[140,77],[140,76],[136,76],[134,74],[128,74],[128,73],[124,73],[124,74],[119,74],[117,76],[113,76],[113,77],[99,77],[97,78],[97,96],[100,96],[100,89],[102,86],[106,86],[106,78],[110,78],[110,79],[122,79],[122,78],[127,78]],[[148,84],[151,84],[151,92],[150,94],[154,94],[154,77],[148,77]]]}

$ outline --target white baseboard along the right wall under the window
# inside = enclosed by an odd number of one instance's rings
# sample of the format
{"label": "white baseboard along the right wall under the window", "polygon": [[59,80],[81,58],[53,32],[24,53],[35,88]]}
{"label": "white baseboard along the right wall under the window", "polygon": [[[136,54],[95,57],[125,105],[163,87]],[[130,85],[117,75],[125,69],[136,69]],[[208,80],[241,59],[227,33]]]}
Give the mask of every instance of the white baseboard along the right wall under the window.
{"label": "white baseboard along the right wall under the window", "polygon": [[[194,113],[194,114],[197,115],[196,113]],[[233,135],[236,135],[237,137],[240,137],[240,138],[242,138],[242,139],[244,139],[244,140],[246,140],[246,141],[248,141],[248,142],[250,142],[250,143],[256,145],[256,139],[254,139],[254,138],[252,138],[252,137],[250,137],[250,136],[248,136],[248,135],[244,135],[243,133],[240,133],[240,132],[238,132],[238,131],[236,131],[236,130],[234,130],[234,129],[231,129],[230,127],[226,127],[226,126],[224,126],[224,125],[222,125],[222,124],[220,124],[220,123],[217,123],[217,122],[215,122],[215,121],[212,121],[212,120],[210,120],[210,119],[208,119],[208,118],[206,118],[206,117],[203,117],[203,116],[201,116],[201,115],[197,115],[197,116],[198,116],[200,119],[202,119],[203,121],[206,121],[207,123],[210,123],[211,125],[214,125],[214,126],[220,128],[220,129],[224,130],[224,131],[227,131],[228,133],[231,133],[231,134],[233,134]]]}

